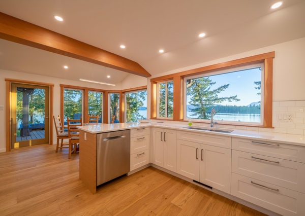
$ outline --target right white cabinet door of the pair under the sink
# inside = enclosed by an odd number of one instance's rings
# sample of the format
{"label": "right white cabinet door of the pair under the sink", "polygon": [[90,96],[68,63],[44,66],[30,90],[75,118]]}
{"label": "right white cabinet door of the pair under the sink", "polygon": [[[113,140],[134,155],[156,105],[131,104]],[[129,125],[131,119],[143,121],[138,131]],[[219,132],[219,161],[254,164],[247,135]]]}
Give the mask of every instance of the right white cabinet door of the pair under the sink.
{"label": "right white cabinet door of the pair under the sink", "polygon": [[200,182],[231,193],[231,149],[201,144]]}

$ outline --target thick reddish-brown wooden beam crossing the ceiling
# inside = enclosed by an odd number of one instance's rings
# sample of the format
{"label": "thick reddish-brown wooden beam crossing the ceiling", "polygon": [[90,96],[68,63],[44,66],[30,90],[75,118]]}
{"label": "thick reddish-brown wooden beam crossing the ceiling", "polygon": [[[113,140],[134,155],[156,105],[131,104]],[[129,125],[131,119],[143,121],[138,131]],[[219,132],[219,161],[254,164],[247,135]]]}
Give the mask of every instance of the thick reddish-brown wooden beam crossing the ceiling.
{"label": "thick reddish-brown wooden beam crossing the ceiling", "polygon": [[0,38],[130,74],[151,76],[135,61],[1,12]]}

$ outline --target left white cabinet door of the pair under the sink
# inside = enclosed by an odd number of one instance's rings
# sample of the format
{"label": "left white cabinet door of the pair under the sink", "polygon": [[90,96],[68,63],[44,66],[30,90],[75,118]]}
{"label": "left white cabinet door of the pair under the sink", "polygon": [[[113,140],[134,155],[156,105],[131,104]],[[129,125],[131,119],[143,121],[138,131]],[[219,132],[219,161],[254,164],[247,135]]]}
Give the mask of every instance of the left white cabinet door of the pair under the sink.
{"label": "left white cabinet door of the pair under the sink", "polygon": [[177,140],[177,172],[199,181],[200,144],[186,140]]}

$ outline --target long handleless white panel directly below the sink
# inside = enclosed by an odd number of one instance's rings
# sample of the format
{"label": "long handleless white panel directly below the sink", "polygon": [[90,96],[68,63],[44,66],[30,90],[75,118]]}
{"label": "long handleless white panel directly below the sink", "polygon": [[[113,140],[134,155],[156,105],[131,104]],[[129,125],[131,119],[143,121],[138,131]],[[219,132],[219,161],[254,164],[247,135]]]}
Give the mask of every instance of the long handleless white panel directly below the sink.
{"label": "long handleless white panel directly below the sink", "polygon": [[214,136],[214,135],[206,135],[206,134],[203,135],[200,133],[178,131],[177,139],[197,142],[211,146],[218,146],[227,149],[231,148],[231,137],[228,136],[222,136],[222,135]]}

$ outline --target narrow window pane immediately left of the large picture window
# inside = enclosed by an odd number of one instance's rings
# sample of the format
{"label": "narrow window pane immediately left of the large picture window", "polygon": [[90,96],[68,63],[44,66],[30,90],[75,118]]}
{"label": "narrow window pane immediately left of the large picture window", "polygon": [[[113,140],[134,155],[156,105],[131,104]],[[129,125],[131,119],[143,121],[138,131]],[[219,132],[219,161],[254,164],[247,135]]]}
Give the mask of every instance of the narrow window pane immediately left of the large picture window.
{"label": "narrow window pane immediately left of the large picture window", "polygon": [[158,117],[159,118],[173,118],[173,81],[168,81],[158,84]]}

